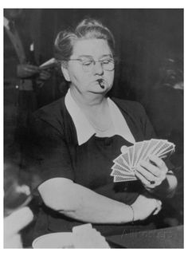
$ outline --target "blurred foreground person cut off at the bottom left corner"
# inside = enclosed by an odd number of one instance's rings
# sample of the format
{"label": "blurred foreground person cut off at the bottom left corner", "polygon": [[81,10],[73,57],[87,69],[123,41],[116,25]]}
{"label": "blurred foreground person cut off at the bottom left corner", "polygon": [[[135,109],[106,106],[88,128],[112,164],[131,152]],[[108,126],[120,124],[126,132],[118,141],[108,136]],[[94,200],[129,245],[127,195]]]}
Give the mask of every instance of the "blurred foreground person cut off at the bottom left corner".
{"label": "blurred foreground person cut off at the bottom left corner", "polygon": [[28,175],[14,163],[4,169],[4,248],[22,248],[21,230],[33,220]]}

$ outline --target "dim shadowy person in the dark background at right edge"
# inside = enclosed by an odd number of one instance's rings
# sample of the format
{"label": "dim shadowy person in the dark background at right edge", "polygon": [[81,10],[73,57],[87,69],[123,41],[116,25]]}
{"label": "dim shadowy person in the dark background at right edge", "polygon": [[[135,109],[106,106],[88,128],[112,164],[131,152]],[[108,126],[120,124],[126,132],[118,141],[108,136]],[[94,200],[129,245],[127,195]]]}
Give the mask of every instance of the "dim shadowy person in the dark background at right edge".
{"label": "dim shadowy person in the dark background at right edge", "polygon": [[182,60],[165,58],[159,69],[159,81],[147,99],[147,113],[159,137],[176,144],[182,154],[183,69]]}

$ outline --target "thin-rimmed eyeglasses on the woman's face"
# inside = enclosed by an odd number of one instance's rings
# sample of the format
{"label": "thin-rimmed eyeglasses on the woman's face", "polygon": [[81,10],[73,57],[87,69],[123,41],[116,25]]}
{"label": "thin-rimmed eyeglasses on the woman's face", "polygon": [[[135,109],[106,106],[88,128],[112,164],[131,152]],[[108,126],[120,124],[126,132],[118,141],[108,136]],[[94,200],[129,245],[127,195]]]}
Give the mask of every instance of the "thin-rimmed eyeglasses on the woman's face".
{"label": "thin-rimmed eyeglasses on the woman's face", "polygon": [[96,65],[96,62],[100,62],[102,68],[107,71],[112,71],[115,67],[115,62],[112,57],[101,59],[99,61],[95,61],[92,58],[69,59],[69,61],[79,61],[80,65],[82,65],[82,69],[84,70],[84,72],[91,72],[94,68],[94,65]]}

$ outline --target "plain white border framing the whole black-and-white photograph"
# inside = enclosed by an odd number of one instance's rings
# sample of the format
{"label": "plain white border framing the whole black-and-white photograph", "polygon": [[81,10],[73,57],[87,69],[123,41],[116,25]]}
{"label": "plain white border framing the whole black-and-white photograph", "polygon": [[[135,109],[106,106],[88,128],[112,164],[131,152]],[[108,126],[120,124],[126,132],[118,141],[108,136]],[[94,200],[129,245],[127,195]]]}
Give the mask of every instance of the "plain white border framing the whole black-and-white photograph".
{"label": "plain white border framing the whole black-and-white photograph", "polygon": [[[36,1],[36,0],[30,0],[30,1],[18,1],[18,0],[14,0],[14,1],[4,1],[2,0],[1,1],[1,27],[3,28],[3,24],[2,24],[2,15],[3,15],[3,8],[184,8],[184,17],[185,17],[185,53],[184,53],[184,56],[185,56],[185,85],[187,86],[187,83],[186,83],[186,45],[187,45],[187,34],[186,34],[186,30],[187,30],[187,27],[186,27],[186,22],[187,22],[187,12],[186,12],[186,2],[187,0],[185,1],[181,1],[181,0],[170,0],[170,1],[143,1],[143,0],[137,0],[137,1],[119,1],[119,0],[109,0],[109,1],[106,1],[106,0],[75,0],[75,1],[65,1],[65,0],[61,0],[61,1]],[[3,31],[3,30],[2,30]],[[2,32],[1,31],[1,32]],[[3,33],[3,32],[2,32]],[[2,33],[1,33],[1,44],[2,43]],[[1,45],[3,46],[3,45]],[[3,49],[1,47],[1,49]],[[2,53],[2,50],[1,50],[1,60],[3,60],[3,53]],[[1,74],[3,77],[3,65],[2,65],[2,61],[1,61]],[[3,82],[2,82],[2,85],[3,85]],[[185,118],[186,117],[186,109],[187,109],[187,100],[186,100],[186,86],[185,86],[185,107],[184,107],[184,112],[185,112]],[[2,86],[3,87],[3,86]],[[3,92],[3,91],[2,91]],[[2,100],[2,95],[3,93],[1,92],[0,94],[0,99],[1,99],[1,104],[2,104],[2,108],[3,109],[3,100]],[[3,113],[1,111],[1,124],[3,124],[2,122],[3,120]],[[188,127],[187,124],[186,124],[186,120],[185,120],[185,144],[186,144],[186,131],[188,131]],[[1,126],[1,135],[2,135],[2,126]],[[1,136],[2,138],[2,136]],[[1,140],[2,142],[2,140]],[[186,160],[186,147],[185,147],[185,160]],[[1,150],[1,160],[2,160],[2,150]],[[186,161],[185,161],[185,170],[186,170]],[[2,165],[1,165],[2,167]],[[186,172],[187,170],[185,171],[185,180],[187,181],[187,175],[186,175]],[[3,173],[3,172],[2,172]],[[185,183],[186,185],[186,183]],[[2,179],[1,179],[1,192],[2,192],[2,186],[3,186],[3,182],[2,182]],[[185,195],[185,202],[186,202],[186,187],[187,185],[185,186],[185,191],[184,191],[184,195]],[[2,193],[1,193],[2,195]],[[2,199],[2,196],[1,196],[1,199]],[[2,204],[1,204],[2,206]],[[2,223],[2,209],[1,209],[1,226],[0,226],[0,229],[2,230],[2,233],[3,233],[3,223]],[[185,203],[185,224],[186,224],[186,203]],[[186,226],[186,225],[185,225]],[[186,230],[186,228],[185,228]],[[1,248],[3,246],[3,243],[2,243],[2,239],[3,239],[3,234],[1,234]],[[185,248],[186,248],[186,232],[185,232]],[[107,253],[107,254],[110,254],[110,255],[114,255],[114,254],[139,254],[139,253],[144,253],[145,255],[158,255],[158,254],[185,254],[186,253],[186,250],[170,250],[170,251],[161,251],[161,250],[108,250],[108,251],[104,251],[104,250],[100,250],[100,252],[98,250],[56,250],[55,251],[55,254],[57,255],[69,255],[69,254],[81,254],[81,255],[84,255],[84,254],[98,254],[98,253]],[[52,254],[53,253],[53,250],[8,250],[8,249],[1,249],[1,254],[2,255],[10,255],[10,254]],[[187,254],[187,253],[186,253]]]}

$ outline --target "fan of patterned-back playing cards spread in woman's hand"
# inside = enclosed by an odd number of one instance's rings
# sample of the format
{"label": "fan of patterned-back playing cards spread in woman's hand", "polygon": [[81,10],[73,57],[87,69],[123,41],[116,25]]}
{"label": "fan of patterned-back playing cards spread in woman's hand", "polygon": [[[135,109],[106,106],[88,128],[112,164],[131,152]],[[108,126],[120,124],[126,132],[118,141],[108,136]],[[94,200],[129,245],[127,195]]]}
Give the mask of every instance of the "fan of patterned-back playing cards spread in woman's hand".
{"label": "fan of patterned-back playing cards spread in woman's hand", "polygon": [[131,147],[125,147],[123,153],[113,160],[111,175],[114,182],[131,181],[137,179],[135,167],[140,160],[149,160],[149,156],[167,158],[174,152],[175,145],[167,140],[143,140]]}

